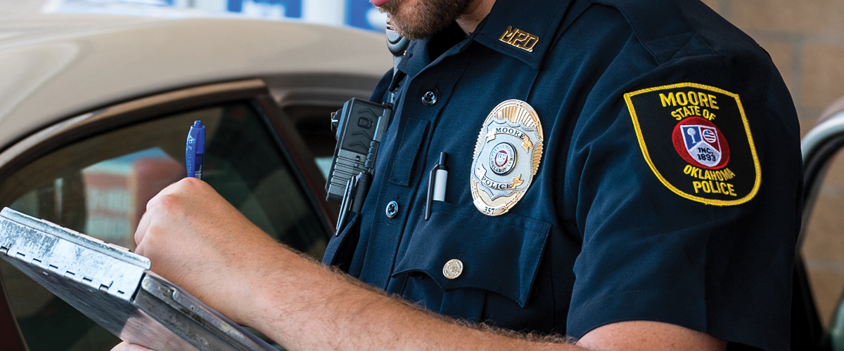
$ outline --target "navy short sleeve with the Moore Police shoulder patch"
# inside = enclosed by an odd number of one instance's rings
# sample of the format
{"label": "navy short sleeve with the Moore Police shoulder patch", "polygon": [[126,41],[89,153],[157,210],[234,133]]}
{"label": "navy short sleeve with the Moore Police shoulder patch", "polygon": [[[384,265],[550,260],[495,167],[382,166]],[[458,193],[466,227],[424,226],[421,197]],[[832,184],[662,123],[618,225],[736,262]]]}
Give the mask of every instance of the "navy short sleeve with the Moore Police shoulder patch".
{"label": "navy short sleeve with the Moore Police shoulder patch", "polygon": [[799,134],[776,68],[760,69],[770,82],[720,56],[670,61],[587,104],[565,180],[583,240],[571,336],[655,321],[788,348]]}

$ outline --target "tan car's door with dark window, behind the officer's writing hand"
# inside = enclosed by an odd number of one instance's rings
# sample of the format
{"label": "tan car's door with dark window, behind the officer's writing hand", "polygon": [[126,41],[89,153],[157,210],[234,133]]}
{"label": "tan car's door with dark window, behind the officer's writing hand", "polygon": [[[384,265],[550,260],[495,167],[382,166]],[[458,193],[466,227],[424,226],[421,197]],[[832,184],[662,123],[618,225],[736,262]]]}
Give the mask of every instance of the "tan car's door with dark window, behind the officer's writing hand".
{"label": "tan car's door with dark window, behind the officer's writing hand", "polygon": [[[206,126],[204,180],[268,235],[321,258],[333,226],[322,173],[260,79],[160,93],[46,127],[0,153],[0,206],[131,249],[146,202],[185,177],[194,120]],[[0,284],[3,350],[119,342],[5,262]]]}

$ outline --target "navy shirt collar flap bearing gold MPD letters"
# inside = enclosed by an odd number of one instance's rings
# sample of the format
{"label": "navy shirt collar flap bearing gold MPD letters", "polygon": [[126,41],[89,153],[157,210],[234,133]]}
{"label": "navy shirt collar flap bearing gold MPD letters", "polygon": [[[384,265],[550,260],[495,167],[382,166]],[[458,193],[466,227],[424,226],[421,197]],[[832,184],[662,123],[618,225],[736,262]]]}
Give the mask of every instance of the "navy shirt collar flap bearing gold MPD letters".
{"label": "navy shirt collar flap bearing gold MPD letters", "polygon": [[496,0],[474,40],[538,69],[571,1]]}

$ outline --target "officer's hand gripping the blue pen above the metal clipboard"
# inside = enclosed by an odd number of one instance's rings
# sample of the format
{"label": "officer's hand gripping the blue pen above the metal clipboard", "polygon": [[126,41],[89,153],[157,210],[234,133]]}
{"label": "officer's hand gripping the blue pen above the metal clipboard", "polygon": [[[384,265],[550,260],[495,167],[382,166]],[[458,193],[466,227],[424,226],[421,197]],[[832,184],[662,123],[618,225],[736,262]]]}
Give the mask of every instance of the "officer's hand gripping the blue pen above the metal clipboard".
{"label": "officer's hand gripping the blue pen above the metal clipboard", "polygon": [[[250,286],[262,281],[268,250],[279,245],[217,194],[208,183],[184,178],[147,203],[136,253],[152,270],[208,306],[245,324]],[[246,286],[243,286],[246,285]]]}

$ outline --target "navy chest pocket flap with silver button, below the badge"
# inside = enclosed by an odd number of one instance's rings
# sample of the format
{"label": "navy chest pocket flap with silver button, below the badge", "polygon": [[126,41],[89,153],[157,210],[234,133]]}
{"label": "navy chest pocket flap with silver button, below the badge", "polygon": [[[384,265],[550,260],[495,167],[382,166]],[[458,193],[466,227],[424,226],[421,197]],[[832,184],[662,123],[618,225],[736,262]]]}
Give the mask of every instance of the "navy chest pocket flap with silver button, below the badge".
{"label": "navy chest pocket flap with silver button, below the badge", "polygon": [[[474,205],[434,201],[428,221],[419,220],[393,276],[421,272],[441,290],[479,289],[524,307],[548,240],[550,224],[512,213],[490,217]],[[446,263],[463,264],[455,279]]]}

